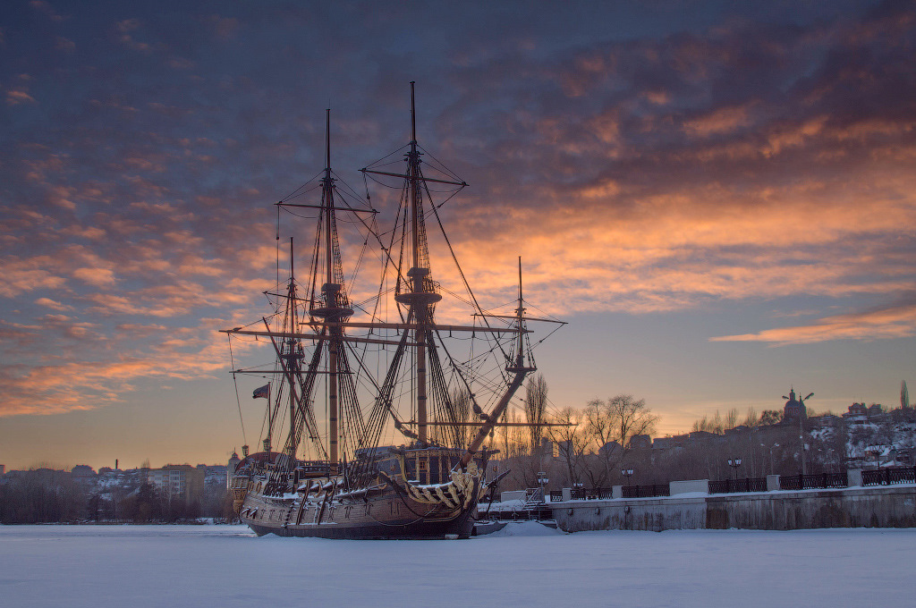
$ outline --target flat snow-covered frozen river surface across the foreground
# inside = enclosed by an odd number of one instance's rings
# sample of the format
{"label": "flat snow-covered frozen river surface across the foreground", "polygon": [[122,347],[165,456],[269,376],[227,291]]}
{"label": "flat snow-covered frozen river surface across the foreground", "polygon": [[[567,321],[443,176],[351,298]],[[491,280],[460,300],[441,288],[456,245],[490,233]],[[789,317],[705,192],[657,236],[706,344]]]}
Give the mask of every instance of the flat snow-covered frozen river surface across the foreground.
{"label": "flat snow-covered frozen river surface across the foreground", "polygon": [[0,605],[907,606],[916,529],[469,540],[254,537],[236,526],[0,527]]}

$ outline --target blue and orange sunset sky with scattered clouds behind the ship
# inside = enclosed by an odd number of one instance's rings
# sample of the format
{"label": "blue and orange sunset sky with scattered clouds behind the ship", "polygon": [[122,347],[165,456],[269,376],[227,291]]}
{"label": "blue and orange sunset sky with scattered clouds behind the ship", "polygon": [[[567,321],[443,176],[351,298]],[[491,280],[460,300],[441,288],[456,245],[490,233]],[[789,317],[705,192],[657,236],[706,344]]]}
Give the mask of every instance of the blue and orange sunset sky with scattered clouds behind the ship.
{"label": "blue and orange sunset sky with scattered clouds behind the ship", "polygon": [[476,294],[511,299],[520,255],[569,323],[537,352],[555,407],[632,394],[657,435],[791,387],[898,407],[914,56],[897,0],[5,2],[0,463],[240,447],[218,330],[264,307],[273,203],[322,170],[328,107],[365,191],[409,81],[420,143],[470,184],[442,213]]}

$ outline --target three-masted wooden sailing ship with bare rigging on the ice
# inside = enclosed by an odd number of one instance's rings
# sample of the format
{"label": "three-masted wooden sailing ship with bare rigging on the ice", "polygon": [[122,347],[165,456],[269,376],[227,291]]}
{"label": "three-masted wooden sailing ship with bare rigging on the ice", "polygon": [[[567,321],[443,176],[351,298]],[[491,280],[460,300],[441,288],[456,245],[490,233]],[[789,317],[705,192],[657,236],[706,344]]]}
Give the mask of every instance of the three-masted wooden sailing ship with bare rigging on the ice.
{"label": "three-masted wooden sailing ship with bare rigging on the ice", "polygon": [[[225,330],[230,346],[265,341],[275,355],[269,368],[234,371],[269,378],[254,394],[267,399],[263,451],[245,447],[231,476],[234,508],[258,535],[469,537],[477,503],[497,481],[486,475],[496,451],[485,443],[535,370],[520,261],[509,314],[480,308],[444,230],[439,241],[466,293],[433,280],[427,220],[442,227],[444,201],[432,195],[451,198],[467,184],[418,144],[412,82],[409,144],[362,169],[366,201],[370,179],[392,188],[398,182],[394,228],[378,230],[375,210],[352,204],[353,190],[339,188],[330,126],[329,111],[325,168],[312,190],[321,190],[321,200],[298,202],[304,188],[277,203],[278,211],[316,223],[306,280],[295,275],[290,239],[289,278],[267,292],[271,314]],[[355,279],[344,275],[344,217],[362,229],[364,246],[379,252],[383,266],[377,290],[359,303]],[[364,261],[365,251],[354,266]],[[467,323],[437,322],[442,291],[470,305]]]}

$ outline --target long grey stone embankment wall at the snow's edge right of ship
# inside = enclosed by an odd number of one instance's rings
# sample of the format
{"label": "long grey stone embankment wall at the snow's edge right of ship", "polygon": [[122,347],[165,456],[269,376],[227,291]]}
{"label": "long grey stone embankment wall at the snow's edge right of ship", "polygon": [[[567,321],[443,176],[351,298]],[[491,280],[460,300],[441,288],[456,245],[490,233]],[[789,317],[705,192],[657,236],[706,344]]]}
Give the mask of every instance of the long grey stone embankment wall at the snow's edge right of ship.
{"label": "long grey stone embankment wall at the snow's edge right of ship", "polygon": [[583,530],[916,527],[916,485],[551,503],[557,526]]}

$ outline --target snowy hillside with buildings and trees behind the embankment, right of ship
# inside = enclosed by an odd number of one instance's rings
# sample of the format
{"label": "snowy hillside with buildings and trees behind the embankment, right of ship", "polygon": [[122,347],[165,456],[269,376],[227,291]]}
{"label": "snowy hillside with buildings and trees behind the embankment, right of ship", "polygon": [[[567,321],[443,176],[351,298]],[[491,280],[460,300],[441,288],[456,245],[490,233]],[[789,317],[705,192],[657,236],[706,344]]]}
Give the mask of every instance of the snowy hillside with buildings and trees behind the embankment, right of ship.
{"label": "snowy hillside with buildings and trees behind the embankment, right of ship", "polygon": [[690,432],[654,439],[648,433],[625,433],[603,440],[607,435],[594,430],[601,425],[586,413],[574,419],[574,428],[554,432],[552,441],[540,438],[533,444],[537,449],[524,440],[506,442],[507,450],[497,443],[504,450],[494,467],[511,470],[501,489],[520,490],[545,477],[549,488],[597,488],[916,464],[916,409],[905,384],[901,405],[893,409],[853,403],[841,415],[813,414],[806,398],[791,390],[780,410],[760,416],[748,412],[741,423],[737,412],[716,415],[698,421]]}

